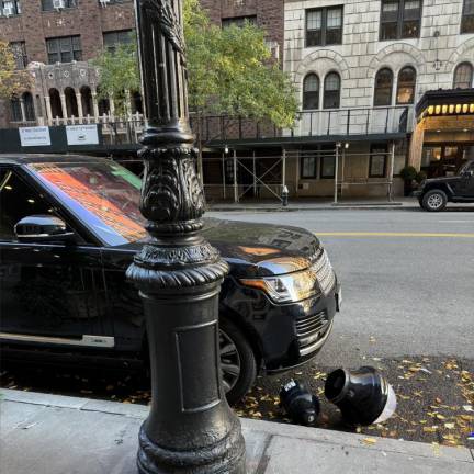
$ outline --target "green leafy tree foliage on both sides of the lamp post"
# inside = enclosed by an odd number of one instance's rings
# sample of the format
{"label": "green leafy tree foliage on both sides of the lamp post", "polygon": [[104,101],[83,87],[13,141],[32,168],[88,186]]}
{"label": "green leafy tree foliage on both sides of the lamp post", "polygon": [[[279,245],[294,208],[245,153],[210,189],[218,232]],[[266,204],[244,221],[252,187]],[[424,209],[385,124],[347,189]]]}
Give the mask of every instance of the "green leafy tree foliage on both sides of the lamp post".
{"label": "green leafy tree foliage on both sides of the lamp post", "polygon": [[[270,121],[292,126],[297,100],[290,76],[272,59],[266,32],[246,23],[221,29],[199,0],[184,2],[190,109],[206,114]],[[124,90],[139,90],[136,43],[104,50],[92,61],[100,71],[100,97],[114,97],[124,111]],[[198,132],[199,133],[199,132]]]}

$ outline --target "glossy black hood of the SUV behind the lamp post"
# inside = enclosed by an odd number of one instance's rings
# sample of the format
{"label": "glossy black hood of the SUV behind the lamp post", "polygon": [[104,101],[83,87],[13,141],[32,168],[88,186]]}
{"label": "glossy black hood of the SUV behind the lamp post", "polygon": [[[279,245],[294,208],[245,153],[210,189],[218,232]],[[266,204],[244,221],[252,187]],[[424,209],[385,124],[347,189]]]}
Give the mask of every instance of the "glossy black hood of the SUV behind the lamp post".
{"label": "glossy black hood of the SUV behind the lamp post", "polygon": [[[300,227],[204,218],[203,236],[230,266],[234,276],[270,276],[305,270],[320,248]],[[144,242],[123,246],[137,251]]]}

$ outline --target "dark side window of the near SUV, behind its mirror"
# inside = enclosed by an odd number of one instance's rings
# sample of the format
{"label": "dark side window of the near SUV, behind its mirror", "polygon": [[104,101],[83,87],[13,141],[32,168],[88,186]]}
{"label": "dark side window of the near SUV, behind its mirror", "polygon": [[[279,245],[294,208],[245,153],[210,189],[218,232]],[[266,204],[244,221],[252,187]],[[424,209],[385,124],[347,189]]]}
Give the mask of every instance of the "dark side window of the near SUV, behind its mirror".
{"label": "dark side window of the near SUV, behind its mirror", "polygon": [[15,240],[15,224],[29,215],[53,214],[45,198],[12,169],[0,168],[0,240]]}

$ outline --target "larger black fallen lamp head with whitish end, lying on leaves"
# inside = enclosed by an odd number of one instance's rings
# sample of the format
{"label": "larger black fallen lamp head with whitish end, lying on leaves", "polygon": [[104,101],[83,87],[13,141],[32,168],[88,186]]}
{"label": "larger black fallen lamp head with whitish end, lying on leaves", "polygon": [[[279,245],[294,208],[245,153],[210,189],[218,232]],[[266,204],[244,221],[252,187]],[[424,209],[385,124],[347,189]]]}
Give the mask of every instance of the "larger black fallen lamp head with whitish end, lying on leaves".
{"label": "larger black fallen lamp head with whitish end, lying on leaves", "polygon": [[341,410],[343,420],[352,426],[385,421],[396,409],[395,392],[371,366],[331,372],[325,395]]}

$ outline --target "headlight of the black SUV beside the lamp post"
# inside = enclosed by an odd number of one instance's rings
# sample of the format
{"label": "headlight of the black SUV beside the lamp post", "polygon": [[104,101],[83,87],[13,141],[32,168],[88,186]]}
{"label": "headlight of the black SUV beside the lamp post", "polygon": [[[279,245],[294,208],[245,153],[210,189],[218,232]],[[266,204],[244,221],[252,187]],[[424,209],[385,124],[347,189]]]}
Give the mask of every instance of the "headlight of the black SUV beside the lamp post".
{"label": "headlight of the black SUV beside the lamp post", "polygon": [[244,286],[262,290],[275,303],[297,302],[320,293],[313,269],[281,276],[242,279],[240,283]]}

